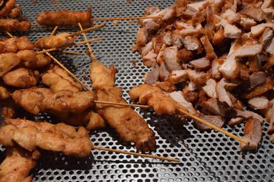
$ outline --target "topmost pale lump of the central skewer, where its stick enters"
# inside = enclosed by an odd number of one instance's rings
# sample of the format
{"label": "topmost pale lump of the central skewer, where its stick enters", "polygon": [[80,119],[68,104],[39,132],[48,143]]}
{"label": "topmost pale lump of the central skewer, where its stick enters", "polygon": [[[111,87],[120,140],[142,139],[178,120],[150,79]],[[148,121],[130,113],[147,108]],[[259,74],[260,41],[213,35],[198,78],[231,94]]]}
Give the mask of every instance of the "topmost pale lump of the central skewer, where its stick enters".
{"label": "topmost pale lump of the central skewer, where its stick enters", "polygon": [[97,60],[92,60],[90,64],[91,87],[101,89],[103,87],[114,87],[116,68],[106,67]]}

